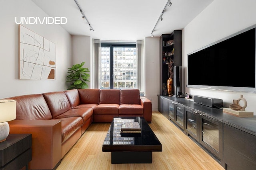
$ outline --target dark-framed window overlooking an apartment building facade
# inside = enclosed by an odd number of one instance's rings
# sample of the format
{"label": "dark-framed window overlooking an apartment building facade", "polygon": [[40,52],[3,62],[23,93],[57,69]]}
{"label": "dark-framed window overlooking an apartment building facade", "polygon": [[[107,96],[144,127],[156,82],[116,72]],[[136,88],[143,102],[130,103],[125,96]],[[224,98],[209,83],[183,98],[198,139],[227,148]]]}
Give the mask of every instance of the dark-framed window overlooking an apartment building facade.
{"label": "dark-framed window overlooking an apartment building facade", "polygon": [[101,44],[100,88],[137,87],[136,44]]}

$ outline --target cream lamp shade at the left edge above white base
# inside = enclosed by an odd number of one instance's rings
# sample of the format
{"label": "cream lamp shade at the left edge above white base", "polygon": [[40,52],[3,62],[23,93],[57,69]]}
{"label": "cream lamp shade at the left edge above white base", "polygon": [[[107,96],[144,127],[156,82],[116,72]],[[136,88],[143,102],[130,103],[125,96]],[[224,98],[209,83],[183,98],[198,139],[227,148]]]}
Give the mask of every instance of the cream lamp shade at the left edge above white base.
{"label": "cream lamp shade at the left edge above white base", "polygon": [[0,100],[0,123],[16,119],[16,100]]}

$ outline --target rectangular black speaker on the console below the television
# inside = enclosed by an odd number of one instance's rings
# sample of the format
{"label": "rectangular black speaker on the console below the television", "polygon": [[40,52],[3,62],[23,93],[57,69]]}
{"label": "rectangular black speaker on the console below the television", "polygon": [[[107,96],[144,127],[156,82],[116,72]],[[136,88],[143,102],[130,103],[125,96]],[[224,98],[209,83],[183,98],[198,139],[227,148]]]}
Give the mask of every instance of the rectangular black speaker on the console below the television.
{"label": "rectangular black speaker on the console below the television", "polygon": [[194,96],[194,102],[198,104],[202,104],[204,106],[208,107],[222,107],[223,106],[223,100],[222,99],[216,99],[216,98],[208,98],[204,96]]}

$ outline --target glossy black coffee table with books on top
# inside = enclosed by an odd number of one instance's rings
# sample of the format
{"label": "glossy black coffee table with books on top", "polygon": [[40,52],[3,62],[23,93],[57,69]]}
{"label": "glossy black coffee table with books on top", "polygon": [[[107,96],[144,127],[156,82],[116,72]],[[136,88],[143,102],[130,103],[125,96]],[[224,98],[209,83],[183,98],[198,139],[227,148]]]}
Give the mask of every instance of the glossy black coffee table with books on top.
{"label": "glossy black coffee table with books on top", "polygon": [[[141,133],[121,133],[122,122],[138,121]],[[143,117],[114,117],[102,145],[111,152],[112,164],[152,163],[152,152],[161,152],[162,144]]]}

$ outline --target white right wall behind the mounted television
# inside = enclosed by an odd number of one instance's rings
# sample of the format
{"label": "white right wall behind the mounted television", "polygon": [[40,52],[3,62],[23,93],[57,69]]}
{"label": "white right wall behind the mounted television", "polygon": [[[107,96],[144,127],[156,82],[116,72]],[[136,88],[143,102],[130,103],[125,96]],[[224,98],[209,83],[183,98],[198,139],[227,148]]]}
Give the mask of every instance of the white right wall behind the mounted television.
{"label": "white right wall behind the mounted television", "polygon": [[[194,20],[186,25],[182,30],[182,67],[184,68],[182,71],[185,85],[187,83],[186,66],[188,53],[256,24],[255,9],[255,0],[214,0]],[[234,49],[239,49],[238,47]],[[239,62],[237,66],[239,70]],[[245,77],[238,77],[238,80],[244,81]],[[184,89],[184,92],[190,92],[192,96],[200,95],[220,98],[223,100],[225,107],[232,104],[233,99],[240,98],[240,94],[242,94],[248,102],[246,110],[254,111],[254,114],[256,114],[256,94],[199,90],[186,87]],[[240,104],[243,105],[243,102]]]}

